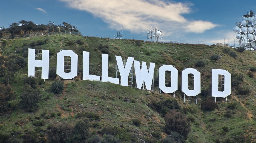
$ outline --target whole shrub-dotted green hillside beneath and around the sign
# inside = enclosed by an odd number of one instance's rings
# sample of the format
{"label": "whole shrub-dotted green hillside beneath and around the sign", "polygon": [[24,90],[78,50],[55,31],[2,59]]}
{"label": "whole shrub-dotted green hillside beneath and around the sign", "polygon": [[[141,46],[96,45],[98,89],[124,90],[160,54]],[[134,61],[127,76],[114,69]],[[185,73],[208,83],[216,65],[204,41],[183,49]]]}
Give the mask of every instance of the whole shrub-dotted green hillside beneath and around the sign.
{"label": "whole shrub-dotted green hillside beneath and around the sign", "polygon": [[[0,142],[256,142],[254,51],[58,34],[1,40],[0,45]],[[49,50],[48,80],[26,78],[29,48]],[[59,81],[55,74],[56,54],[60,50],[72,50],[78,55],[78,75],[74,80],[61,79],[64,90],[54,93],[52,84]],[[109,55],[109,77],[116,76],[115,55],[155,63],[154,91],[137,89],[135,76],[133,88],[82,80],[83,51],[90,52],[92,75],[101,76],[102,53]],[[9,70],[16,72],[8,86],[3,71],[8,71],[7,63],[14,59],[18,59],[19,67]],[[172,94],[160,94],[161,64],[178,70],[175,98]],[[198,104],[196,97],[186,96],[183,102],[184,68],[196,68],[201,73]],[[231,95],[227,101],[216,98],[214,103],[211,69],[231,73]],[[22,99],[30,93],[40,97],[30,104],[32,107]],[[176,115],[179,120],[167,126],[166,121]]]}

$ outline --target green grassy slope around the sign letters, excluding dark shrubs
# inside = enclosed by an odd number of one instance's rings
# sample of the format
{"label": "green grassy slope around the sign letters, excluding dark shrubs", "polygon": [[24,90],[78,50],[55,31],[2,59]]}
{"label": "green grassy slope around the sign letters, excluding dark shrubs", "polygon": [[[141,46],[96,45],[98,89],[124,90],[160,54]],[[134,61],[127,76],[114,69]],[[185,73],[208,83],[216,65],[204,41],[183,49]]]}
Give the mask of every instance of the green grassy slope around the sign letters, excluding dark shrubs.
{"label": "green grassy slope around the sign letters, excluding dark shrubs", "polygon": [[[46,40],[47,39],[47,40]],[[30,109],[21,103],[20,95],[24,87],[24,78],[27,76],[27,67],[19,70],[11,78],[11,88],[15,98],[8,101],[8,111],[0,113],[0,133],[12,135],[12,139],[24,140],[22,135],[31,134],[39,140],[46,141],[49,125],[68,122],[75,125],[79,119],[88,117],[93,126],[92,136],[101,134],[107,127],[116,127],[124,134],[114,135],[122,142],[164,142],[168,136],[165,132],[165,120],[160,112],[151,108],[151,103],[166,101],[168,98],[177,100],[180,112],[185,113],[191,122],[191,131],[187,143],[215,142],[255,142],[256,141],[256,107],[255,107],[255,72],[251,71],[256,64],[254,51],[236,52],[233,58],[224,52],[224,47],[175,43],[151,43],[131,39],[108,39],[82,37],[73,35],[51,35],[30,37],[24,39],[7,40],[1,45],[1,55],[17,54],[27,58],[27,48],[31,43],[45,41],[35,49],[50,51],[49,68],[56,67],[56,54],[61,49],[73,50],[78,55],[78,76],[73,80],[63,80],[63,93],[50,92],[54,79],[45,80],[38,89],[42,95],[37,107]],[[82,41],[77,44],[77,40]],[[156,63],[154,72],[154,91],[138,90],[135,87],[124,87],[112,83],[84,81],[82,78],[82,51],[90,52],[90,74],[101,75],[101,48],[107,47],[109,54],[109,77],[115,77],[115,55],[134,57],[134,60]],[[236,51],[229,48],[230,51]],[[210,60],[214,54],[221,55],[218,60]],[[205,62],[204,67],[196,67],[197,60]],[[178,90],[173,95],[159,93],[158,68],[161,64],[174,65],[178,70]],[[195,97],[187,97],[183,102],[181,91],[181,72],[184,68],[196,68],[201,73],[201,94],[198,95],[198,104]],[[201,110],[201,103],[211,97],[211,69],[225,69],[232,74],[232,83],[243,77],[241,83],[233,84],[231,95],[225,99],[217,98],[217,109],[213,111]],[[0,77],[0,83],[4,83]],[[249,91],[249,92],[246,92]],[[244,94],[244,95],[243,95]],[[83,106],[82,106],[83,105]],[[82,106],[82,107],[80,107]],[[88,116],[88,115],[94,116]],[[140,126],[132,120],[139,119]],[[41,122],[40,125],[36,124]],[[227,130],[226,130],[227,128]],[[123,130],[124,129],[124,130]],[[129,135],[128,135],[129,134]],[[127,137],[128,136],[128,137]],[[42,139],[41,139],[42,140]],[[178,141],[177,141],[178,142]]]}

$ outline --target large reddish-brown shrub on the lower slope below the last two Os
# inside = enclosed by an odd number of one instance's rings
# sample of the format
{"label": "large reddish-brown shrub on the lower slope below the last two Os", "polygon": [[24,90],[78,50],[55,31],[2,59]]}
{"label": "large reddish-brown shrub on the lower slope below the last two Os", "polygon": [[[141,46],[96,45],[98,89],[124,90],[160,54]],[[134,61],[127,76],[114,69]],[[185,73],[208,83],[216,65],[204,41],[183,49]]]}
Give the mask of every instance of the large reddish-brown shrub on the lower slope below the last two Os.
{"label": "large reddish-brown shrub on the lower slope below the last two Os", "polygon": [[187,138],[190,132],[190,121],[187,115],[171,110],[165,115],[165,129],[167,132],[177,132]]}

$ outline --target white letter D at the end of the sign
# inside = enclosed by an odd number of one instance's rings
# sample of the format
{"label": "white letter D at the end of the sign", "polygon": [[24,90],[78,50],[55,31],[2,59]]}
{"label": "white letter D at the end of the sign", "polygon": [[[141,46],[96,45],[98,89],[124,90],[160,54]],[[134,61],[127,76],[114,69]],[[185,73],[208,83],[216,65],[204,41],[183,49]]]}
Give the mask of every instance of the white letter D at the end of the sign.
{"label": "white letter D at the end of the sign", "polygon": [[[219,75],[224,75],[224,91],[219,91]],[[231,94],[231,73],[226,70],[212,69],[212,96],[227,97]]]}

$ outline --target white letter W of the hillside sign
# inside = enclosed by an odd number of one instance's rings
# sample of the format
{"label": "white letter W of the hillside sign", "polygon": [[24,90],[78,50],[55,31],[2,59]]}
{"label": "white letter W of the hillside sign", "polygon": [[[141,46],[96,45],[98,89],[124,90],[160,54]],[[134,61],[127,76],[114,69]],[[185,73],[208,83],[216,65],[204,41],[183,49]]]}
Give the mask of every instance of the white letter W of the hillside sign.
{"label": "white letter W of the hillside sign", "polygon": [[140,69],[139,61],[134,61],[134,71],[136,76],[136,86],[141,89],[143,81],[145,82],[147,90],[151,90],[153,75],[154,75],[155,63],[150,63],[149,71],[146,62],[142,62],[142,67]]}

